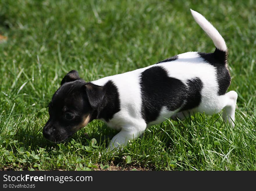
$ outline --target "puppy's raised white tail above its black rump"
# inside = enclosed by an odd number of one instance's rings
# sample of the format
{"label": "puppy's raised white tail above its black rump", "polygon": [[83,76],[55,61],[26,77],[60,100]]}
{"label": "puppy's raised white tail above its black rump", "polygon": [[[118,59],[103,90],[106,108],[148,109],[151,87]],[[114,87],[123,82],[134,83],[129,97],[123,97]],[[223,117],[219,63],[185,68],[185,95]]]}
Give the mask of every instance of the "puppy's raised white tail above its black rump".
{"label": "puppy's raised white tail above its black rump", "polygon": [[190,9],[195,21],[201,26],[206,34],[211,38],[215,47],[221,51],[227,51],[227,45],[217,29],[200,13]]}

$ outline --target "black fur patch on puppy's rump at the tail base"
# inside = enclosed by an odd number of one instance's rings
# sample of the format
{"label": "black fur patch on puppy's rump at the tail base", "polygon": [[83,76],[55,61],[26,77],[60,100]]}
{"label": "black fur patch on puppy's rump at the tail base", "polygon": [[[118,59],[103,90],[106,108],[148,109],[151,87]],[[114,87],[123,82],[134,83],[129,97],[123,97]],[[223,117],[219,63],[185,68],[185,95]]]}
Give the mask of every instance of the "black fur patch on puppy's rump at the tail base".
{"label": "black fur patch on puppy's rump at the tail base", "polygon": [[217,70],[218,95],[224,95],[231,83],[230,73],[227,69],[227,52],[215,49],[214,53],[202,53],[198,55]]}

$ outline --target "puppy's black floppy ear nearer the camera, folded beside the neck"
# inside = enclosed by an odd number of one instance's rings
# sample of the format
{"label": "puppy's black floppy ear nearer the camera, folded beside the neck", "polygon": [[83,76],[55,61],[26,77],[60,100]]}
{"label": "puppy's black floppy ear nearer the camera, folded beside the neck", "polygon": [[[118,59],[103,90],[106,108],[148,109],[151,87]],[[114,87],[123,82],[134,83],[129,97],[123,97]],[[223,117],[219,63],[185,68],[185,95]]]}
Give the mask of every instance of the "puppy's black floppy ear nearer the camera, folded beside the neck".
{"label": "puppy's black floppy ear nearer the camera, folded beside the neck", "polygon": [[95,85],[93,83],[86,83],[86,94],[88,101],[90,103],[90,106],[94,110],[99,110],[99,106],[102,103],[102,100],[105,96],[105,90],[102,86]]}

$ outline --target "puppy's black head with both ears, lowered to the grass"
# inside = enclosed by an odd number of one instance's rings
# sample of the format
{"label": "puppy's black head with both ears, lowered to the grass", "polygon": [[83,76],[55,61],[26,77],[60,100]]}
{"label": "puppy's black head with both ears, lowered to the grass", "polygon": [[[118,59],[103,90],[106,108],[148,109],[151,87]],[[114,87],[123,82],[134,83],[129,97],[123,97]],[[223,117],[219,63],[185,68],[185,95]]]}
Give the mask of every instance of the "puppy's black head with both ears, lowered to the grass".
{"label": "puppy's black head with both ears, lowered to the grass", "polygon": [[49,120],[43,128],[46,139],[61,142],[92,121],[104,98],[102,86],[86,83],[72,70],[49,103]]}

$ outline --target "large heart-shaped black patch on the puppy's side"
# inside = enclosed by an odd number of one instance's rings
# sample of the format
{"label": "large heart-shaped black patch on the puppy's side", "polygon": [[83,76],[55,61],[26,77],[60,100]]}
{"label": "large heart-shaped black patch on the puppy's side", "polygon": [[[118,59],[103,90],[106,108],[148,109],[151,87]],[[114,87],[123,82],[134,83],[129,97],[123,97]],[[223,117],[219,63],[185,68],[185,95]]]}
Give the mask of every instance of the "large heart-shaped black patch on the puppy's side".
{"label": "large heart-shaped black patch on the puppy's side", "polygon": [[142,117],[146,123],[157,119],[163,106],[174,111],[182,106],[187,97],[186,85],[168,76],[166,69],[154,66],[140,76]]}

